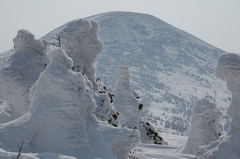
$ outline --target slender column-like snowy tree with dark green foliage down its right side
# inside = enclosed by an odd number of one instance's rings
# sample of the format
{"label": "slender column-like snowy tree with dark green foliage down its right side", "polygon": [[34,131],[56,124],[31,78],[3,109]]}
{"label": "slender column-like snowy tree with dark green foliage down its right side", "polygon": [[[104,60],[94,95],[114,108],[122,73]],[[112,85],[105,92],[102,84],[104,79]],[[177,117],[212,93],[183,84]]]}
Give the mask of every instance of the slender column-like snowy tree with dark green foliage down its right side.
{"label": "slender column-like snowy tree with dark green foliage down its right side", "polygon": [[145,119],[145,109],[139,95],[130,86],[130,72],[127,66],[119,66],[116,74],[113,106],[119,113],[123,127],[138,129],[145,143],[167,144],[154,127]]}

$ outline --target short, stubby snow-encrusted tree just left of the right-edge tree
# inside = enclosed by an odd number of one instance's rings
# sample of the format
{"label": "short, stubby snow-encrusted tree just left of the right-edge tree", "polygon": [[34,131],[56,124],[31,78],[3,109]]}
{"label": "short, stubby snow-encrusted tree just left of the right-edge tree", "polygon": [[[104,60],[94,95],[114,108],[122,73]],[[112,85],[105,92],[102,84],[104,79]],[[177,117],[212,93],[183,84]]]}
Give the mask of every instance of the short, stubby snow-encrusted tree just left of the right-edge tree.
{"label": "short, stubby snow-encrusted tree just left of the right-edge tree", "polygon": [[221,116],[215,103],[207,98],[199,99],[192,112],[190,135],[178,151],[198,155],[201,146],[216,141],[219,138],[217,124]]}

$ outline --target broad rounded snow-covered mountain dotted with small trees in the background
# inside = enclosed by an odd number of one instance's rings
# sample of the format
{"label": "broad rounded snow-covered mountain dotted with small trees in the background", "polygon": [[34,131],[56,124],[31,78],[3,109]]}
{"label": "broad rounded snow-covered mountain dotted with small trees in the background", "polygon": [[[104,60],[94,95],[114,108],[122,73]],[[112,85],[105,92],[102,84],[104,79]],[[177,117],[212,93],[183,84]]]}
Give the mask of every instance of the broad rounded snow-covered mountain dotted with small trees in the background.
{"label": "broad rounded snow-covered mountain dotted with small trees in the background", "polygon": [[[128,66],[132,87],[152,112],[149,118],[161,127],[159,131],[171,128],[185,133],[192,108],[203,97],[226,111],[231,98],[214,71],[217,57],[225,51],[147,14],[109,12],[87,19],[99,23],[104,43],[97,59],[97,77],[114,87],[117,67]],[[55,39],[64,26],[42,39],[57,45]],[[222,130],[229,125],[225,118]]]}

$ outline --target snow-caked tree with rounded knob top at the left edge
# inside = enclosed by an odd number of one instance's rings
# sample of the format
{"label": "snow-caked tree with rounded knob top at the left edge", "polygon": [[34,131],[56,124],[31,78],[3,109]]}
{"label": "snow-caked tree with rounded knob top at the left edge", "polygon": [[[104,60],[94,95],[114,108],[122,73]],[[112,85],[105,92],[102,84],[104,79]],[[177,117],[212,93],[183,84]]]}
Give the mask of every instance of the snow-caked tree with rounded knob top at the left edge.
{"label": "snow-caked tree with rounded knob top at the left edge", "polygon": [[46,41],[35,39],[27,30],[19,30],[13,42],[13,54],[0,71],[0,98],[8,104],[5,111],[0,112],[0,123],[16,119],[28,111],[29,89],[48,63],[43,51]]}

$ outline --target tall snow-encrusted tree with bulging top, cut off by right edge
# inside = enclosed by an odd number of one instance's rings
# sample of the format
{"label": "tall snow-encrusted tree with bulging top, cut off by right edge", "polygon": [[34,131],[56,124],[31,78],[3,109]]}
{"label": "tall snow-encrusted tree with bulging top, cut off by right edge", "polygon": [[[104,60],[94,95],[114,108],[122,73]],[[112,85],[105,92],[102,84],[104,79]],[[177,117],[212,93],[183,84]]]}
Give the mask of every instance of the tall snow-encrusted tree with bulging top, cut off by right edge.
{"label": "tall snow-encrusted tree with bulging top, cut off by right edge", "polygon": [[240,158],[240,55],[222,54],[218,58],[217,75],[227,82],[232,93],[232,101],[228,109],[230,130],[225,136],[205,146],[205,154],[201,158],[239,159]]}

